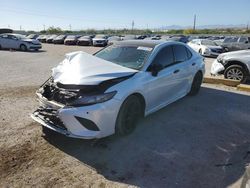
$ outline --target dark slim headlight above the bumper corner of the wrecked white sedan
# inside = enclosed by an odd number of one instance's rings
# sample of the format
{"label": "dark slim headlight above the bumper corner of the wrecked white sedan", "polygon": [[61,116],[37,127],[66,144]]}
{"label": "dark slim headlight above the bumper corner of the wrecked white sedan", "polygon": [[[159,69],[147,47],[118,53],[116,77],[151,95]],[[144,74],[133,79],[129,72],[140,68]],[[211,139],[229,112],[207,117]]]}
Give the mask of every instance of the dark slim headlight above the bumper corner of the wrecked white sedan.
{"label": "dark slim headlight above the bumper corner of the wrecked white sedan", "polygon": [[112,99],[117,91],[112,91],[109,93],[103,93],[98,95],[91,95],[91,96],[80,96],[78,99],[74,100],[73,102],[68,103],[69,106],[85,106],[91,104],[102,103]]}

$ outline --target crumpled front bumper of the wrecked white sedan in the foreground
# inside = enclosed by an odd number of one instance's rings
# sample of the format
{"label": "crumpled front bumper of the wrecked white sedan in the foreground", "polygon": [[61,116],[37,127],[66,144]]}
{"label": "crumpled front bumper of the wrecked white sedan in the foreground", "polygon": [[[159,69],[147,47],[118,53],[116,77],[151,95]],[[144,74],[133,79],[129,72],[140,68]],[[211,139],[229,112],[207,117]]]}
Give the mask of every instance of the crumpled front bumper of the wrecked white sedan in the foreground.
{"label": "crumpled front bumper of the wrecked white sedan in the foreground", "polygon": [[[114,134],[121,102],[111,99],[82,107],[66,107],[38,94],[40,107],[31,118],[68,137],[94,139]],[[46,114],[47,113],[47,114]]]}

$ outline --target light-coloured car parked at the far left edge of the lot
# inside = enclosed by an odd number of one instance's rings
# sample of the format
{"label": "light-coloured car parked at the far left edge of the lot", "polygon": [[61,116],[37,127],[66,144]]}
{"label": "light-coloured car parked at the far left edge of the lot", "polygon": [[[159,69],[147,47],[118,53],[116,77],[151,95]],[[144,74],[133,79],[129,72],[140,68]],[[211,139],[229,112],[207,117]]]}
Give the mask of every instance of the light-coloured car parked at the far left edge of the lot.
{"label": "light-coloured car parked at the far left edge of the lot", "polygon": [[37,51],[41,48],[42,45],[38,40],[26,38],[24,35],[13,34],[13,33],[0,34],[0,49]]}

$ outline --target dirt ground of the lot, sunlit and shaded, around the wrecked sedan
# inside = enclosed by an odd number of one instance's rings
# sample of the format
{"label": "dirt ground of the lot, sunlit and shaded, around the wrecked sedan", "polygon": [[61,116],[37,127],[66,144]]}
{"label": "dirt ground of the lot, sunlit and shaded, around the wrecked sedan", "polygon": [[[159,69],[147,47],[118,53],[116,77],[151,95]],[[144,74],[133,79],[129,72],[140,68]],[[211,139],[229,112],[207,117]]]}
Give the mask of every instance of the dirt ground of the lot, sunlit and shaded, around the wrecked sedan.
{"label": "dirt ground of the lot, sunlit and shaded, around the wrecked sedan", "polygon": [[35,90],[66,52],[98,48],[43,47],[0,51],[0,187],[239,187],[247,180],[250,93],[204,84],[126,137],[45,136],[29,117]]}

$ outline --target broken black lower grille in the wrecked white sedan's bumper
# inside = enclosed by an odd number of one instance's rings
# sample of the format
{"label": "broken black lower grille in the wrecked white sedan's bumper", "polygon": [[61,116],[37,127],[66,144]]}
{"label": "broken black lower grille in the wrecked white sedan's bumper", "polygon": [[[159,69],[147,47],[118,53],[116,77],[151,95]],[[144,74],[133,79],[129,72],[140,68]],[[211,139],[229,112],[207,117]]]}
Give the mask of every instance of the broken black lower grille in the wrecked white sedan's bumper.
{"label": "broken black lower grille in the wrecked white sedan's bumper", "polygon": [[38,116],[46,123],[52,124],[53,126],[67,130],[63,122],[60,120],[60,118],[57,115],[57,110],[51,109],[51,108],[44,108],[39,107],[35,112],[35,116]]}

